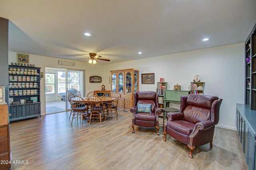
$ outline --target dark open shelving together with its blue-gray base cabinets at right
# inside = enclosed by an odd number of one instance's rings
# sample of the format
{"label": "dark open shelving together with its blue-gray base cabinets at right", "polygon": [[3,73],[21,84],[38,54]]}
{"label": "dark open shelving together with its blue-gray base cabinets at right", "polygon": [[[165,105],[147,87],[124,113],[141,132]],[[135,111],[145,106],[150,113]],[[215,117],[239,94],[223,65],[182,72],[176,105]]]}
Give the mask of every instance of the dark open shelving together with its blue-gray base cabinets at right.
{"label": "dark open shelving together with its blue-gray base cabinets at right", "polygon": [[236,129],[249,170],[256,170],[256,24],[244,45],[244,104],[236,104]]}

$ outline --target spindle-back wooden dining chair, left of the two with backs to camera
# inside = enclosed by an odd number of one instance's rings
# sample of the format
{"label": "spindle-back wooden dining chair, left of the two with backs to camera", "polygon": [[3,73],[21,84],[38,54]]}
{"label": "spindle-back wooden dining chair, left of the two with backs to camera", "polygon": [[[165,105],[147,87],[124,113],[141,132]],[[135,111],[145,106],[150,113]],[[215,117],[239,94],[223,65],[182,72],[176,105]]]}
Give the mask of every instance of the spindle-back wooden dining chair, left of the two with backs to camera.
{"label": "spindle-back wooden dining chair, left of the two with backs to camera", "polygon": [[72,104],[72,109],[73,109],[73,116],[72,116],[72,122],[73,123],[74,119],[80,119],[82,120],[83,124],[83,118],[87,117],[89,119],[89,113],[87,112],[87,106],[83,105],[84,104],[84,99],[81,98],[80,96],[72,96],[70,98],[70,103]]}

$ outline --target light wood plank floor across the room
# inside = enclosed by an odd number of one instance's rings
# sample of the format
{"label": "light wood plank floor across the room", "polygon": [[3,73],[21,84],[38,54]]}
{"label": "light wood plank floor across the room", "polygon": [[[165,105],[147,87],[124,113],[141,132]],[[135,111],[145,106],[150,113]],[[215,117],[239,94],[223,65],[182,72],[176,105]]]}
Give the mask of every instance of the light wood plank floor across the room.
{"label": "light wood plank floor across the room", "polygon": [[118,110],[118,120],[84,125],[69,112],[10,124],[12,170],[246,170],[246,160],[234,130],[215,128],[213,147],[198,146],[194,158],[185,144],[156,128],[135,126],[132,114]]}

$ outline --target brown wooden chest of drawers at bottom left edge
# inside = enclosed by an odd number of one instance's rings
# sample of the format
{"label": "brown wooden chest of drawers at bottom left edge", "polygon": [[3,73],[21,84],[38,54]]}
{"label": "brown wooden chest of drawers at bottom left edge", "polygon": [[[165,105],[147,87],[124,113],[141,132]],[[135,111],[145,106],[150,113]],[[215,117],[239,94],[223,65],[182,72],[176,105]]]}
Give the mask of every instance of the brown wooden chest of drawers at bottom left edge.
{"label": "brown wooden chest of drawers at bottom left edge", "polygon": [[[0,104],[0,170],[11,168],[8,105]],[[7,162],[7,163],[6,163]],[[6,163],[6,164],[3,164]]]}

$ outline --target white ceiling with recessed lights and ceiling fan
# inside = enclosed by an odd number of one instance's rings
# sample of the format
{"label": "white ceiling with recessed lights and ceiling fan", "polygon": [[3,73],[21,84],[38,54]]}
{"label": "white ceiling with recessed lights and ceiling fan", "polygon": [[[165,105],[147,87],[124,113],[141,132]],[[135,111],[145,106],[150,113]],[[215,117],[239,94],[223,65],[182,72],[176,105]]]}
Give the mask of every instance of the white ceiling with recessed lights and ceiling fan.
{"label": "white ceiling with recessed lights and ceiling fan", "polygon": [[256,0],[0,0],[0,17],[9,51],[109,64],[244,42]]}

